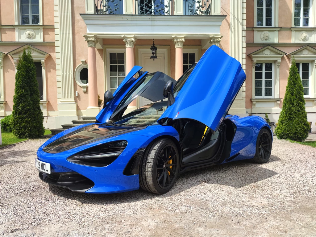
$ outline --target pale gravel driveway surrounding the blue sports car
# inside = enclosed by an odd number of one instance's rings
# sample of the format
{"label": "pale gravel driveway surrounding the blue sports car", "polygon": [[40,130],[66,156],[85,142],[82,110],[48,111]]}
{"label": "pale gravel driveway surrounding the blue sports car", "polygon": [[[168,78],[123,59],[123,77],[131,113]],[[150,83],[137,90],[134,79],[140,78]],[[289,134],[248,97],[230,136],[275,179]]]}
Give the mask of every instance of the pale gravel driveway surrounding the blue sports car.
{"label": "pale gravel driveway surrounding the blue sports car", "polygon": [[44,141],[0,149],[0,236],[316,236],[316,148],[275,139],[266,164],[184,173],[164,195],[92,195],[39,179]]}

